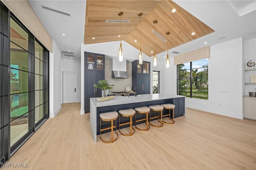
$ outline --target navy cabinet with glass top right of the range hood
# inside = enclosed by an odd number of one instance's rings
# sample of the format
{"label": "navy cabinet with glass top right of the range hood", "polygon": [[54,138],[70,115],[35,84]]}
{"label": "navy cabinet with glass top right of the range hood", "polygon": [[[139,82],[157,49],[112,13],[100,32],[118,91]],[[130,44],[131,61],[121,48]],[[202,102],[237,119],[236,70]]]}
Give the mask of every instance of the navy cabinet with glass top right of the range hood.
{"label": "navy cabinet with glass top right of the range hood", "polygon": [[137,94],[150,94],[150,62],[132,62],[132,89],[134,86]]}

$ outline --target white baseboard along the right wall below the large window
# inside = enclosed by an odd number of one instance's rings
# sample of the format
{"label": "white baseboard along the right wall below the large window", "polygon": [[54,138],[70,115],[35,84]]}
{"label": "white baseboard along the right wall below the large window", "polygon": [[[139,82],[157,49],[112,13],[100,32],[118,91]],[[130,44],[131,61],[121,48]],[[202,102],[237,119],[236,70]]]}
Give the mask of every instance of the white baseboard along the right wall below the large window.
{"label": "white baseboard along the right wall below the large window", "polygon": [[186,107],[191,108],[191,109],[206,111],[206,112],[214,113],[214,114],[218,114],[218,115],[224,115],[224,116],[228,116],[228,117],[234,117],[234,118],[237,118],[237,119],[243,119],[242,114],[238,115],[236,113],[221,111],[221,110],[217,110],[217,109],[209,109],[209,108],[206,108],[206,107],[193,106],[193,105],[186,105]]}

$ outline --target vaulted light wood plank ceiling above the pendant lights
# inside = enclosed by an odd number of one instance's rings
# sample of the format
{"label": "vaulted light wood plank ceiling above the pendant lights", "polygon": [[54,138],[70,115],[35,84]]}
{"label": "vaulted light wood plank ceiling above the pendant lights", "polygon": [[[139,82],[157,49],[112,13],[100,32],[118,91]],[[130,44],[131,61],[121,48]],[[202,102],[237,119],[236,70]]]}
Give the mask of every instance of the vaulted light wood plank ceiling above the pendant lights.
{"label": "vaulted light wood plank ceiling above the pendant lights", "polygon": [[[189,12],[171,0],[87,0],[84,44],[120,41],[120,23],[106,23],[106,20],[120,20],[119,12],[123,12],[122,40],[140,50],[140,17],[142,53],[153,56],[172,49],[204,35],[214,32]],[[172,9],[176,12],[172,13]],[[153,21],[157,20],[156,25]],[[156,28],[154,29],[154,26]],[[170,32],[168,42],[156,36],[154,29],[167,40],[166,32]],[[194,32],[195,35],[191,35]],[[94,37],[95,39],[92,39]],[[135,42],[134,40],[137,40]],[[125,50],[125,49],[123,49]]]}

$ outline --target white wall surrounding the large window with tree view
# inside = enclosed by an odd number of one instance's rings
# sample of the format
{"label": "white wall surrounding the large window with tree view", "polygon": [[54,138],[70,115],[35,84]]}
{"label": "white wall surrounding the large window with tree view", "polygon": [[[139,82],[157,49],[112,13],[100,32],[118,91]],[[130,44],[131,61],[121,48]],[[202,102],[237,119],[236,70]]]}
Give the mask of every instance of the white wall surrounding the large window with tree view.
{"label": "white wall surrounding the large window with tree view", "polygon": [[[209,99],[186,98],[186,107],[239,119],[243,118],[242,47],[242,38],[210,47],[210,59],[208,60]],[[173,58],[170,60],[172,63]],[[170,66],[170,71],[166,72],[165,79],[165,92],[176,94],[176,66]]]}

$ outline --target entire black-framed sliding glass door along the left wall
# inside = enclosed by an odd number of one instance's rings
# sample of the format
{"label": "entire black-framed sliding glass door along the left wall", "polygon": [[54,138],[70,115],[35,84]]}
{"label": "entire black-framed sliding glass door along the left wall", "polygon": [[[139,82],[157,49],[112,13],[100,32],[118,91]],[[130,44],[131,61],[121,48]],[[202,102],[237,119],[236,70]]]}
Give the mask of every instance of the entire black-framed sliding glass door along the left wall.
{"label": "entire black-framed sliding glass door along the left wall", "polygon": [[0,163],[3,163],[49,117],[49,51],[0,4]]}

